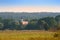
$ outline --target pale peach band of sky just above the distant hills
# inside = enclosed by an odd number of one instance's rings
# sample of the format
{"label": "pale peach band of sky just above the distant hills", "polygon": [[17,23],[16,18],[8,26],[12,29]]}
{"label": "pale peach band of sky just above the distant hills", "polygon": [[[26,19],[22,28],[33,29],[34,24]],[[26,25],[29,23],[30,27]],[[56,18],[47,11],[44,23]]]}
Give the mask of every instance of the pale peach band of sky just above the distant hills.
{"label": "pale peach band of sky just above the distant hills", "polygon": [[0,7],[0,12],[60,12],[60,7]]}

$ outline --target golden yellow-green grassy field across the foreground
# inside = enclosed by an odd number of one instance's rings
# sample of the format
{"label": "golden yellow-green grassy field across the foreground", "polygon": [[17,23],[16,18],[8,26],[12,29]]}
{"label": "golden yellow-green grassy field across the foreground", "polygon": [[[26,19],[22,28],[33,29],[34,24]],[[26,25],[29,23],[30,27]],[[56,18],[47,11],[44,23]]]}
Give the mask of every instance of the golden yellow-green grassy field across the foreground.
{"label": "golden yellow-green grassy field across the foreground", "polygon": [[0,31],[0,40],[60,40],[59,32],[39,30]]}

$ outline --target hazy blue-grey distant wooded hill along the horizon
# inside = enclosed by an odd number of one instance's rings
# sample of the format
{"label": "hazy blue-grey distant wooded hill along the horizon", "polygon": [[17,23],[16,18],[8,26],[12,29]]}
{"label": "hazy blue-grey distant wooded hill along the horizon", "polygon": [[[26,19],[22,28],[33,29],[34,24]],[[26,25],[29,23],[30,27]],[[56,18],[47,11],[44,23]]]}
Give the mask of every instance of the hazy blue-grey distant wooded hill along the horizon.
{"label": "hazy blue-grey distant wooded hill along the horizon", "polygon": [[60,15],[60,13],[53,13],[53,12],[0,12],[0,17],[2,18],[13,18],[13,19],[39,19],[42,17],[55,17],[57,15]]}

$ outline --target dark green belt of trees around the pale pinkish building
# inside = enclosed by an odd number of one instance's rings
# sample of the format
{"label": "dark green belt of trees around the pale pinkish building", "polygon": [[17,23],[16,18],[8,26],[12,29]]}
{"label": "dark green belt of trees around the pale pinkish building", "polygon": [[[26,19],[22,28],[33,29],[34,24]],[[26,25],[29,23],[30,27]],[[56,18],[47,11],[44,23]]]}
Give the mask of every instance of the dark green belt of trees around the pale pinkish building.
{"label": "dark green belt of trees around the pale pinkish building", "polygon": [[[26,19],[27,20],[27,19]],[[60,30],[60,15],[28,20],[28,25],[22,25],[20,20],[0,17],[0,30]]]}

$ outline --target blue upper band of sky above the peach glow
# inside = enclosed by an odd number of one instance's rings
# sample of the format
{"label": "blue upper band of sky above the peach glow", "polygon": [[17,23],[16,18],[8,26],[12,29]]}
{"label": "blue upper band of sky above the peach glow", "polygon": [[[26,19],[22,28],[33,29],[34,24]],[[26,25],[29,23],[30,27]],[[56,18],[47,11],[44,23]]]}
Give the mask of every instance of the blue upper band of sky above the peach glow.
{"label": "blue upper band of sky above the peach glow", "polygon": [[0,0],[0,7],[7,6],[60,6],[60,0]]}

